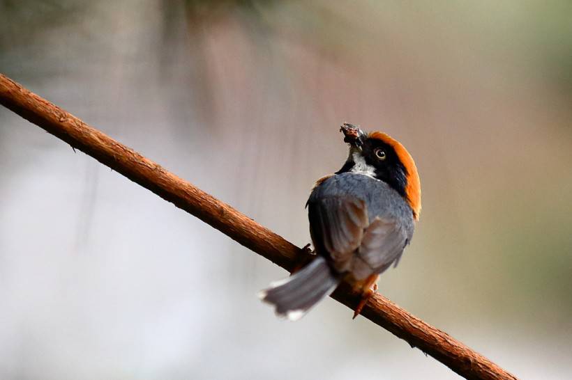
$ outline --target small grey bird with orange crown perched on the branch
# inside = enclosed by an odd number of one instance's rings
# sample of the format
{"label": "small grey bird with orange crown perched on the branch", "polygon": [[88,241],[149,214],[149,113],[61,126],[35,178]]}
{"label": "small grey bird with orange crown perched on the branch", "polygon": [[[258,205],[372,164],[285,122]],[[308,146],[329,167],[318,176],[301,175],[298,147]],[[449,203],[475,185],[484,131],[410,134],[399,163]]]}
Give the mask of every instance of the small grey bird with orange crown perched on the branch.
{"label": "small grey bird with orange crown perched on the branch", "polygon": [[272,283],[260,298],[296,320],[342,282],[361,292],[354,318],[375,291],[379,274],[397,266],[421,212],[421,185],[409,152],[382,132],[340,127],[349,155],[317,180],[306,203],[316,257]]}

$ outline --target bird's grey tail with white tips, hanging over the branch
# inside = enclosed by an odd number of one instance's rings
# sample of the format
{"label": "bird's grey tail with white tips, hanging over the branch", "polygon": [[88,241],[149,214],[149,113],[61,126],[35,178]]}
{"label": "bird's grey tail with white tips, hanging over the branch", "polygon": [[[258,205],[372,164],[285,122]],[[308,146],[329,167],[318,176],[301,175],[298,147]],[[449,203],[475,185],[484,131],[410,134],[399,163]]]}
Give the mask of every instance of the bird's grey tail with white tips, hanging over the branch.
{"label": "bird's grey tail with white tips, hanging over the branch", "polygon": [[332,273],[324,258],[318,257],[292,276],[271,283],[259,296],[276,307],[276,314],[295,321],[329,296],[339,283],[339,276]]}

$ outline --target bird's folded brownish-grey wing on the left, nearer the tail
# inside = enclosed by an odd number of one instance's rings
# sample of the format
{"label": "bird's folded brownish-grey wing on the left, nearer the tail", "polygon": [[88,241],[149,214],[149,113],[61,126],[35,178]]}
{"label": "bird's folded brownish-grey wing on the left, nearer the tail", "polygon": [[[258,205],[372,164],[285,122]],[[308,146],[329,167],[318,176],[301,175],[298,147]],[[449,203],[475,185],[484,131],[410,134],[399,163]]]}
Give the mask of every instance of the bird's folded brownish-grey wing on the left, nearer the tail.
{"label": "bird's folded brownish-grey wing on the left, nearer the tail", "polygon": [[329,196],[308,202],[310,234],[319,255],[338,272],[347,271],[368,227],[368,209],[354,197]]}

